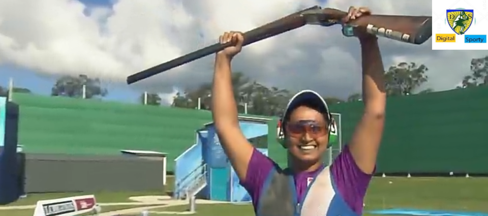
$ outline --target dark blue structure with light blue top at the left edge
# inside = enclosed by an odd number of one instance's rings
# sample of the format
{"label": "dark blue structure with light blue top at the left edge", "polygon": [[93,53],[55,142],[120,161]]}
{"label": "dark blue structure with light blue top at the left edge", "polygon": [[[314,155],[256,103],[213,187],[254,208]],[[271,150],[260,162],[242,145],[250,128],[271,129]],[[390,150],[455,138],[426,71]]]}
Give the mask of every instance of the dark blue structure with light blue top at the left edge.
{"label": "dark blue structure with light blue top at the left edge", "polygon": [[0,204],[19,198],[23,180],[17,162],[19,107],[0,97]]}

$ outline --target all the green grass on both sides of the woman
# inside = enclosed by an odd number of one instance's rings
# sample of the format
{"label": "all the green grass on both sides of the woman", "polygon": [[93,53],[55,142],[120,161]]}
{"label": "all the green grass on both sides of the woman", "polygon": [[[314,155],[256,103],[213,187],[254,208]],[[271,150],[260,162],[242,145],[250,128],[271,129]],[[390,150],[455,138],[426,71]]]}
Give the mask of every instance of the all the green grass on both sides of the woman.
{"label": "all the green grass on both sides of the woman", "polygon": [[[171,180],[169,181],[171,182]],[[485,177],[375,177],[365,200],[365,211],[388,208],[415,208],[425,210],[455,210],[476,211],[488,213],[488,178]],[[171,190],[171,186],[168,187]],[[127,198],[136,195],[162,195],[162,192],[147,193],[98,193],[98,202],[125,202]],[[72,196],[73,194],[64,194]],[[80,195],[80,194],[76,194]],[[46,194],[29,196],[17,203],[33,204],[36,199],[52,199],[60,194]],[[49,197],[49,198],[46,198]],[[28,199],[28,200],[27,200]],[[31,200],[31,201],[29,201]],[[37,201],[37,200],[36,200]],[[120,207],[120,206],[119,206]],[[124,206],[127,208],[128,206]],[[130,207],[130,206],[129,206]],[[102,207],[106,211],[108,207]],[[185,211],[188,206],[164,207],[151,211]],[[0,215],[31,216],[32,210],[24,214],[10,214],[0,211]],[[152,214],[151,214],[152,215]],[[174,215],[174,214],[154,214]],[[197,205],[195,216],[252,216],[251,205],[235,204],[207,204]],[[365,215],[369,215],[365,213]]]}

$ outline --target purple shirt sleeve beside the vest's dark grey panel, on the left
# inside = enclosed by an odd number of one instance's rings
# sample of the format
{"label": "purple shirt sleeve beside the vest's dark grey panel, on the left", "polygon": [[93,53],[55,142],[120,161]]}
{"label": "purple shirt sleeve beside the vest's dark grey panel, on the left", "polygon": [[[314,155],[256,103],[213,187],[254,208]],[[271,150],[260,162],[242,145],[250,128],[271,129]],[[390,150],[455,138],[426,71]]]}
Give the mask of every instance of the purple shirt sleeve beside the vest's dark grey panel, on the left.
{"label": "purple shirt sleeve beside the vest's dark grey panel, on the left", "polygon": [[259,202],[259,196],[261,195],[264,181],[266,180],[269,172],[275,166],[277,166],[275,162],[254,148],[253,154],[249,161],[246,179],[241,181],[240,185],[244,187],[248,191],[249,195],[253,198],[253,205],[255,209]]}

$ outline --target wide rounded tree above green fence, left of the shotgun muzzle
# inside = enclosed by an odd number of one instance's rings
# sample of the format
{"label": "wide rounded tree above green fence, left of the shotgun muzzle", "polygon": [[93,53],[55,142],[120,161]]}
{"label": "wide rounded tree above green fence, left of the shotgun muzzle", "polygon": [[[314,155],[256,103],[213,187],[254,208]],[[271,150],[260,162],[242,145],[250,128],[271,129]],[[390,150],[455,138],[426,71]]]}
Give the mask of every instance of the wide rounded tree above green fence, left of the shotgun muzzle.
{"label": "wide rounded tree above green fence, left of the shotgun muzzle", "polygon": [[79,75],[77,77],[62,76],[57,79],[51,88],[51,96],[81,98],[83,97],[83,85],[85,85],[85,97],[87,99],[105,97],[108,94],[107,89],[102,87],[100,79]]}

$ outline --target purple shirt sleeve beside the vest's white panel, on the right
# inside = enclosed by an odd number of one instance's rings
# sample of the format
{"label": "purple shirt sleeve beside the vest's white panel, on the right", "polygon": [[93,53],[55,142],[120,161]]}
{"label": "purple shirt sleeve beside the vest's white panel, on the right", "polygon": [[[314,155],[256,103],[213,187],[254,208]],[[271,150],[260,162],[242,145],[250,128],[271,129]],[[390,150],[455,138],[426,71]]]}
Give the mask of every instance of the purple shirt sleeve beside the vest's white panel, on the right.
{"label": "purple shirt sleeve beside the vest's white panel, on the right", "polygon": [[330,171],[339,194],[354,212],[361,215],[364,196],[373,175],[359,169],[347,145],[334,159]]}

